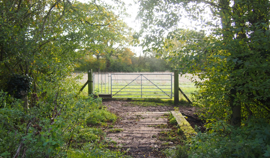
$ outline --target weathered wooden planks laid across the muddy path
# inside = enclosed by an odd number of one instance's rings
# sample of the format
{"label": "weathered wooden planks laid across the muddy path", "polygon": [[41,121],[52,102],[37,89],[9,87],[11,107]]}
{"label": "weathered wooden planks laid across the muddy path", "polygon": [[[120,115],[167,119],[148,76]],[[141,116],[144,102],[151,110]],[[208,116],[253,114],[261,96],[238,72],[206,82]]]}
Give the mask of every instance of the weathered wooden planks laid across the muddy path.
{"label": "weathered wooden planks laid across the muddy path", "polygon": [[108,130],[107,138],[117,142],[117,145],[123,147],[123,149],[129,149],[133,156],[153,157],[152,150],[161,150],[163,149],[162,143],[166,143],[166,141],[157,139],[159,133],[170,130],[155,127],[161,124],[167,125],[167,117],[164,114],[166,115],[168,112],[122,113],[120,115],[122,120],[114,126],[114,129],[123,129],[123,131],[112,132],[112,129]]}

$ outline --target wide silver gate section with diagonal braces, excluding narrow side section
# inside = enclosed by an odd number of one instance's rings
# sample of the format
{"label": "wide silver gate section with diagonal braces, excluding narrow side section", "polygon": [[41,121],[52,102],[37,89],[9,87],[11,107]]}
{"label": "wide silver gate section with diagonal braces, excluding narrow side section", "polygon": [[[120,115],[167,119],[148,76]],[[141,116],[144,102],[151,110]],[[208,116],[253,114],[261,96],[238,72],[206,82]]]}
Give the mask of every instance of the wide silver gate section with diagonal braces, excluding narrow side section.
{"label": "wide silver gate section with diagonal braces, excluding narrow side section", "polygon": [[113,98],[172,98],[172,74],[111,74]]}

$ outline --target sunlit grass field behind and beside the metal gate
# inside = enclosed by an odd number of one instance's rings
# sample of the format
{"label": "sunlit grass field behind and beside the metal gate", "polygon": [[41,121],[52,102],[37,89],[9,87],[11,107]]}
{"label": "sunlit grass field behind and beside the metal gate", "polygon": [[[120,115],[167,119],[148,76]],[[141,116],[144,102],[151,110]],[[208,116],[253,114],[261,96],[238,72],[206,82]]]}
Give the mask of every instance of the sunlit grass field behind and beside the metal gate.
{"label": "sunlit grass field behind and beside the metal gate", "polygon": [[[112,88],[113,98],[170,98],[171,78],[172,84],[174,83],[173,75],[170,72],[95,74],[93,88],[95,93],[103,94],[110,94]],[[112,80],[108,76],[112,76]],[[189,98],[191,93],[196,91],[194,83],[189,80],[190,77],[191,75],[186,75],[186,77],[179,75],[179,87]],[[82,85],[86,83],[87,74],[83,74],[83,79],[79,82]],[[87,87],[83,90],[83,93],[88,94]],[[172,85],[172,93],[174,95],[174,85]],[[181,93],[179,98],[185,99]]]}

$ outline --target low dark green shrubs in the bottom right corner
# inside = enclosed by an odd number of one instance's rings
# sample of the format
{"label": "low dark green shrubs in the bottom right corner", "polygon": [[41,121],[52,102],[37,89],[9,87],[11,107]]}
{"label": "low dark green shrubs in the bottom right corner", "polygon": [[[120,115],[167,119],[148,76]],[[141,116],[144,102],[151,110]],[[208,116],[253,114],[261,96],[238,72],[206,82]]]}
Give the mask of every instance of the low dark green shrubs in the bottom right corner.
{"label": "low dark green shrubs in the bottom right corner", "polygon": [[217,122],[208,124],[208,129],[192,139],[190,158],[270,156],[270,125],[263,119],[242,122],[237,129],[225,122]]}

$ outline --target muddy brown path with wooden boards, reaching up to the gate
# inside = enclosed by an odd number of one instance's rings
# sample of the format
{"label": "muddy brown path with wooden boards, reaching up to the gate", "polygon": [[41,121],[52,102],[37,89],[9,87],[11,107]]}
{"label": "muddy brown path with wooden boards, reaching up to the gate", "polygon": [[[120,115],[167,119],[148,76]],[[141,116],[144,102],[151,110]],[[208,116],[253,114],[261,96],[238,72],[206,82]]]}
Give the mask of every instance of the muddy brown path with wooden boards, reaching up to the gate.
{"label": "muddy brown path with wooden boards, reaching up to the gate", "polygon": [[[132,101],[103,99],[103,105],[107,109],[118,116],[122,120],[114,125],[114,129],[123,129],[121,132],[115,132],[113,129],[107,130],[107,138],[112,139],[122,150],[129,150],[127,154],[132,157],[166,157],[160,150],[176,146],[175,142],[160,141],[157,138],[160,132],[170,130],[171,126],[167,125],[167,118],[164,114],[173,111],[174,106],[134,106]],[[183,111],[188,115],[195,116],[195,107],[177,107],[179,111]],[[189,121],[194,127],[198,124]],[[156,125],[163,124],[164,127],[157,128]],[[163,146],[163,143],[169,146]]]}

